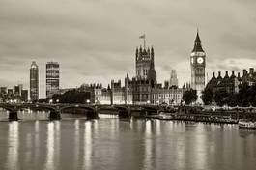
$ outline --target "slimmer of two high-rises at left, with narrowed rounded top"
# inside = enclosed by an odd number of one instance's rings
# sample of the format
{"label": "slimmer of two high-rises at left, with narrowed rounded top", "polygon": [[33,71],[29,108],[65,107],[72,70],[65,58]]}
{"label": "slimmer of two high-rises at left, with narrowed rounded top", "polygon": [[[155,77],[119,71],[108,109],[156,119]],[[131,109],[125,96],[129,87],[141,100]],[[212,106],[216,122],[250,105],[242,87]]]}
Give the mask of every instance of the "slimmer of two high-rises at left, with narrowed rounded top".
{"label": "slimmer of two high-rises at left, with narrowed rounded top", "polygon": [[32,62],[30,67],[30,99],[39,99],[39,67],[36,62]]}

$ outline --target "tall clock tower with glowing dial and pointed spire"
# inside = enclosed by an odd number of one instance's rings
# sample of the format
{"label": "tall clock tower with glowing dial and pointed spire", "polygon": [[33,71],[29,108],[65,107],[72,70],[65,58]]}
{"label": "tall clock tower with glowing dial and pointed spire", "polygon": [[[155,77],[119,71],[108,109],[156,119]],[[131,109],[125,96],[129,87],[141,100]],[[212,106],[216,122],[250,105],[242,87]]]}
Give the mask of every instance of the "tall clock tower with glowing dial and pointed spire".
{"label": "tall clock tower with glowing dial and pointed spire", "polygon": [[197,91],[197,102],[202,103],[202,91],[205,88],[206,53],[201,46],[201,40],[197,31],[194,48],[190,55],[191,64],[191,88]]}

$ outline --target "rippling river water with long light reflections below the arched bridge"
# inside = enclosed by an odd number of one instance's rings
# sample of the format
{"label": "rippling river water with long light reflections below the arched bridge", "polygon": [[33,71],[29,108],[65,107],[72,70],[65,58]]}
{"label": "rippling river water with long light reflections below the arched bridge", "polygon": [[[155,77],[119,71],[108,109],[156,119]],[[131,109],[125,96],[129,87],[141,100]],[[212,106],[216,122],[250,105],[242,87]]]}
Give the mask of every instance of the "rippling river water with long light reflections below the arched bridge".
{"label": "rippling river water with long light reflections below the arched bridge", "polygon": [[[45,113],[0,112],[1,170],[254,170],[256,131],[114,117],[48,121]],[[25,119],[26,118],[26,119]]]}

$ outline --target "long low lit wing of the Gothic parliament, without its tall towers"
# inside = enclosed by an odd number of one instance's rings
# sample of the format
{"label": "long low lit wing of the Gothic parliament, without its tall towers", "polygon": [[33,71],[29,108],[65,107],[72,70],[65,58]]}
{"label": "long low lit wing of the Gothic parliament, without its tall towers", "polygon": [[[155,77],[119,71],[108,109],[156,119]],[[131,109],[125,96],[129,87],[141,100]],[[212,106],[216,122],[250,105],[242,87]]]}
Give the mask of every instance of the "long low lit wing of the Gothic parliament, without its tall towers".
{"label": "long low lit wing of the Gothic parliament, without its tall towers", "polygon": [[[127,83],[126,83],[127,82]],[[180,104],[185,88],[162,88],[161,84],[152,87],[148,80],[125,78],[125,86],[121,80],[111,81],[111,88],[101,89],[100,104]]]}

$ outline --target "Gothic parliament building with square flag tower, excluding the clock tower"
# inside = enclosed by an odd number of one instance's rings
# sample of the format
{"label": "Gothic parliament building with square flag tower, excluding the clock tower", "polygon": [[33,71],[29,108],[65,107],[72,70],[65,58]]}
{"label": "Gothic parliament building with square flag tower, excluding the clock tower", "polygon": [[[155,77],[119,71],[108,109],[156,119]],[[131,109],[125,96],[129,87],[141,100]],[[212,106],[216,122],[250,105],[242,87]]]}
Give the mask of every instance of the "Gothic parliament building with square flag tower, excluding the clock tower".
{"label": "Gothic parliament building with square flag tower, excluding the clock tower", "polygon": [[[107,88],[88,86],[91,92],[91,103],[95,104],[180,104],[185,91],[178,86],[157,83],[155,70],[155,51],[152,47],[135,50],[134,77],[125,77],[124,85],[121,80],[111,80]],[[100,94],[100,95],[99,95]]]}

